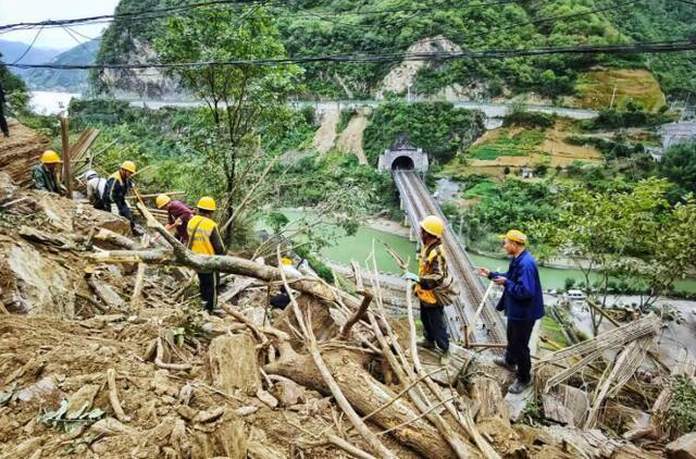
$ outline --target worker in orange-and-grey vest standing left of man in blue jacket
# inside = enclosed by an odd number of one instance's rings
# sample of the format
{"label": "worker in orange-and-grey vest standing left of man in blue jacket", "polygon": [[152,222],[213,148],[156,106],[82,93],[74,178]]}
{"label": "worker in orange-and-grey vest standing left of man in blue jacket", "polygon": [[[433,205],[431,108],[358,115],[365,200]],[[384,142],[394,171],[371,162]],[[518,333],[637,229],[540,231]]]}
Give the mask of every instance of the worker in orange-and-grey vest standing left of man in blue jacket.
{"label": "worker in orange-and-grey vest standing left of man in blue jacket", "polygon": [[443,351],[440,363],[447,364],[450,355],[445,307],[453,301],[453,298],[447,295],[453,281],[448,273],[443,250],[444,233],[445,222],[438,216],[428,215],[421,221],[423,248],[419,258],[419,273],[406,273],[403,278],[415,283],[413,291],[421,302],[424,339],[419,345],[430,349],[437,346]]}

